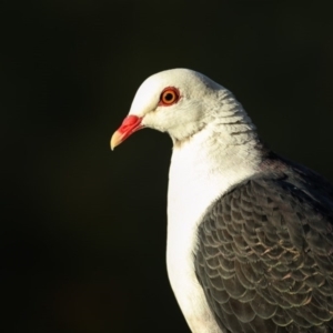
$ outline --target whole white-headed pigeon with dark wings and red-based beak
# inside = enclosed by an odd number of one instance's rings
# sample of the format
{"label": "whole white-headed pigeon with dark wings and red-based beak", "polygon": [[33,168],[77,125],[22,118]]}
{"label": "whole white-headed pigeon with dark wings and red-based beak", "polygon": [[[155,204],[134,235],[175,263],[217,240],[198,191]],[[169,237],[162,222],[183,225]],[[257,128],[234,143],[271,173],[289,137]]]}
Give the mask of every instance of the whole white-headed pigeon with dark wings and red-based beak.
{"label": "whole white-headed pigeon with dark wings and red-based beak", "polygon": [[172,139],[167,268],[193,333],[333,332],[333,186],[268,148],[228,89],[190,69],[140,85],[113,133]]}

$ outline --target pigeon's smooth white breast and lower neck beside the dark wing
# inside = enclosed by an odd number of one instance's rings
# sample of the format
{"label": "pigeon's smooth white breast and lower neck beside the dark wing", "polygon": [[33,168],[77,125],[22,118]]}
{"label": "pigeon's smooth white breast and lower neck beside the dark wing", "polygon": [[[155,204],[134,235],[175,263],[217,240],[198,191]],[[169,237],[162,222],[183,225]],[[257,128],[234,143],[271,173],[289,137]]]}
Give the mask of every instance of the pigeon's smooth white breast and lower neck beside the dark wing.
{"label": "pigeon's smooth white breast and lower neck beside the dark wing", "polygon": [[223,147],[208,131],[174,148],[168,194],[167,264],[173,292],[193,333],[221,332],[195,276],[198,225],[218,198],[256,172],[258,161],[252,147]]}

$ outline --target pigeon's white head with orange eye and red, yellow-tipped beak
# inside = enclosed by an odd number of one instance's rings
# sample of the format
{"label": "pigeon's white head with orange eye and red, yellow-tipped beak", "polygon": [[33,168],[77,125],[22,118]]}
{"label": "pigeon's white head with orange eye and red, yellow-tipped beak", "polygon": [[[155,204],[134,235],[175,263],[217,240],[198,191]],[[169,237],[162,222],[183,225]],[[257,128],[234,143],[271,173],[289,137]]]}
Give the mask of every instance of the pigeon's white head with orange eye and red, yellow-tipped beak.
{"label": "pigeon's white head with orange eye and red, yellow-tipped beak", "polygon": [[188,69],[173,69],[148,78],[139,88],[129,115],[111,138],[111,149],[135,131],[151,128],[168,132],[182,142],[209,121],[219,92],[226,91],[205,75]]}

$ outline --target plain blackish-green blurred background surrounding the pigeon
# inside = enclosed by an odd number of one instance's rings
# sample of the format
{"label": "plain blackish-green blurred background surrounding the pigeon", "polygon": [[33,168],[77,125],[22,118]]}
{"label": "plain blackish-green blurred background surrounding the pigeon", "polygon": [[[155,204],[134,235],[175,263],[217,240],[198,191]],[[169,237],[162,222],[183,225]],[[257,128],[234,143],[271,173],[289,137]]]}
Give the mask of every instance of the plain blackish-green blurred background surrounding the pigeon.
{"label": "plain blackish-green blurred background surrounding the pigeon", "polygon": [[312,3],[2,1],[1,331],[189,332],[165,269],[171,140],[110,137],[147,77],[191,68],[333,180],[333,20]]}

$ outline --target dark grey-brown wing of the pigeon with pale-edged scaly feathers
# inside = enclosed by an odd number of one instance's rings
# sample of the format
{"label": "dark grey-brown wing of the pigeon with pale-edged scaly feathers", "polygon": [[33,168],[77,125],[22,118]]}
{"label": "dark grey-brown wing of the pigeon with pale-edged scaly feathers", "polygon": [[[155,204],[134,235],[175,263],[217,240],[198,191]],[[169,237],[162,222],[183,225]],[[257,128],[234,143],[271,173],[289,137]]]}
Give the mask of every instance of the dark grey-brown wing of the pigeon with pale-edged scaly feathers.
{"label": "dark grey-brown wing of the pigeon with pale-edged scaly feathers", "polygon": [[333,332],[333,202],[291,179],[249,180],[200,224],[195,273],[223,332]]}

